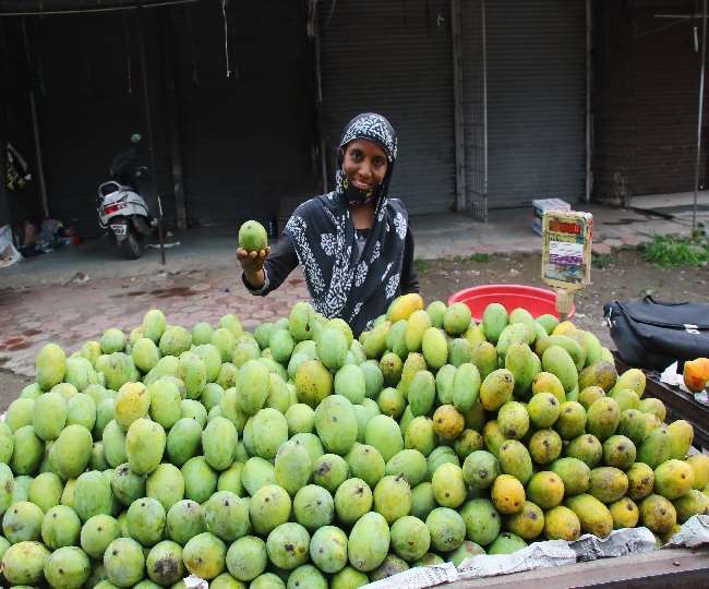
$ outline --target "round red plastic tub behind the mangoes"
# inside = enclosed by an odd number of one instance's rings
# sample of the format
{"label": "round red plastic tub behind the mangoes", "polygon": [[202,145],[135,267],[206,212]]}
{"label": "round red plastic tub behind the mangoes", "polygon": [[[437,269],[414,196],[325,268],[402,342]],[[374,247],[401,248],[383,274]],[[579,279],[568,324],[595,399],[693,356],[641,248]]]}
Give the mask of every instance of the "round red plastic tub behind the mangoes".
{"label": "round red plastic tub behind the mangoes", "polygon": [[[472,318],[477,322],[482,321],[485,306],[493,302],[504,305],[508,313],[521,306],[534,317],[546,313],[558,317],[555,292],[524,285],[484,285],[466,288],[450,296],[448,304],[455,302],[466,303],[470,308]],[[574,313],[576,313],[576,305],[572,306],[567,318],[573,317]]]}

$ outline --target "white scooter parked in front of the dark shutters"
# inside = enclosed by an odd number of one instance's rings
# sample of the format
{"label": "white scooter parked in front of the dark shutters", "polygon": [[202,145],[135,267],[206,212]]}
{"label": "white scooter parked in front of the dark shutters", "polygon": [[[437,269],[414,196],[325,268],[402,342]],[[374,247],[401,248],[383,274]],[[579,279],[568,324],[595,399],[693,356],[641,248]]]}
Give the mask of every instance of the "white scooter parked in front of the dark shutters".
{"label": "white scooter parked in front of the dark shutters", "polygon": [[140,141],[141,135],[134,134],[131,148],[113,158],[109,169],[111,179],[98,187],[96,199],[98,224],[132,260],[143,255],[147,238],[157,224],[141,195],[151,176],[145,166],[140,166]]}

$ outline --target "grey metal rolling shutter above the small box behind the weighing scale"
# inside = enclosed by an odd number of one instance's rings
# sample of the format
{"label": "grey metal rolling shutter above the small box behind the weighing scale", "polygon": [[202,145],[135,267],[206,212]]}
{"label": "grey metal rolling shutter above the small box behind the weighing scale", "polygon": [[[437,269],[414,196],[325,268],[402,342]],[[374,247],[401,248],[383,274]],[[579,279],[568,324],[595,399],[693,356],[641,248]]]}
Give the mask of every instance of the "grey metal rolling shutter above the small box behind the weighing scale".
{"label": "grey metal rolling shutter above the small box behind the weighing scale", "polygon": [[489,1],[486,36],[490,208],[580,200],[585,0]]}

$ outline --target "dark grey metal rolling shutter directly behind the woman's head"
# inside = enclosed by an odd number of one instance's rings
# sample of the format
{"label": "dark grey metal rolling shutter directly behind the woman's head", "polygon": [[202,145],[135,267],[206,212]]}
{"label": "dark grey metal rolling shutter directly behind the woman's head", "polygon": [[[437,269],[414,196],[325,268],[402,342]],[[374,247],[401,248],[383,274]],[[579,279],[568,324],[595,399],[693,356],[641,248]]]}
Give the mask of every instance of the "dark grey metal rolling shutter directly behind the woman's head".
{"label": "dark grey metal rolling shutter directly behind the woman's head", "polygon": [[320,2],[328,175],[343,128],[359,112],[384,115],[398,134],[392,195],[409,213],[455,200],[450,7],[447,0]]}

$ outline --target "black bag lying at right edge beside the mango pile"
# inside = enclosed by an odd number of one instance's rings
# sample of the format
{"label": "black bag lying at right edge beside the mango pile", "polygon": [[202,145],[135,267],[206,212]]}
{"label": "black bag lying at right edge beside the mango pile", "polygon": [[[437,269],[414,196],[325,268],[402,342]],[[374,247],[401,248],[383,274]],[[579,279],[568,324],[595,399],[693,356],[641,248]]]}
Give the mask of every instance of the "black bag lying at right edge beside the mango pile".
{"label": "black bag lying at right edge beside the mango pile", "polygon": [[630,366],[662,371],[675,360],[709,357],[709,304],[615,301],[603,306],[611,337]]}

